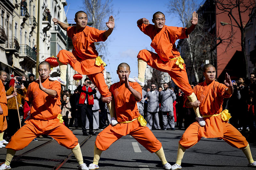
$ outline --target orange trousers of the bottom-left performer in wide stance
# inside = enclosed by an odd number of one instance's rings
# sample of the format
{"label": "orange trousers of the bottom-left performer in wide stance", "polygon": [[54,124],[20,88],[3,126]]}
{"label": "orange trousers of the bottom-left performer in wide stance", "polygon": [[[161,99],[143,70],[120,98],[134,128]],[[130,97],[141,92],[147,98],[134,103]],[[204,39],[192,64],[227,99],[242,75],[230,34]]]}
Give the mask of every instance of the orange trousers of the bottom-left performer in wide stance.
{"label": "orange trousers of the bottom-left performer in wide stance", "polygon": [[62,123],[60,123],[60,126],[46,131],[40,131],[33,125],[25,124],[12,136],[5,148],[19,151],[28,146],[35,137],[43,134],[51,136],[67,149],[73,149],[78,144],[78,139],[73,132]]}

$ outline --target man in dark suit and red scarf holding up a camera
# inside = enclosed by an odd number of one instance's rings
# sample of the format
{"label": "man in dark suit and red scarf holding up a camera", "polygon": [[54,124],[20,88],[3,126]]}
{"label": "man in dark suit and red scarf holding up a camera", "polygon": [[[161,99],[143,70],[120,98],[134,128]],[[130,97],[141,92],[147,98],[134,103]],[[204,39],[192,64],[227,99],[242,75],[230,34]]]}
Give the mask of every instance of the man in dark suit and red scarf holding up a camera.
{"label": "man in dark suit and red scarf holding up a camera", "polygon": [[93,88],[93,84],[89,78],[85,78],[84,83],[79,85],[77,90],[80,92],[77,109],[78,113],[81,115],[83,136],[88,136],[85,128],[86,116],[89,120],[89,135],[95,135],[93,132],[92,107],[94,104],[93,94],[97,91]]}

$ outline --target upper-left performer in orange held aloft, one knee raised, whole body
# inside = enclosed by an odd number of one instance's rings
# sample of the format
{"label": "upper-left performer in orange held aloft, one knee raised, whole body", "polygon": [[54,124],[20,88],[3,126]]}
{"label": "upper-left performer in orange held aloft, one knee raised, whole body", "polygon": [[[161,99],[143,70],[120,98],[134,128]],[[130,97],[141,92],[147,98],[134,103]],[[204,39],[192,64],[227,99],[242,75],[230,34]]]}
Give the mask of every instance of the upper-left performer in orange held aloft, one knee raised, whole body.
{"label": "upper-left performer in orange held aloft, one knee raised, whole body", "polygon": [[74,70],[80,74],[87,75],[92,83],[98,88],[102,95],[102,101],[108,103],[108,109],[113,117],[111,107],[111,93],[105,83],[103,70],[106,65],[96,51],[94,42],[106,41],[112,33],[115,26],[115,19],[111,15],[106,25],[108,30],[98,30],[87,26],[87,14],[84,11],[78,11],[75,15],[76,26],[68,26],[60,22],[57,18],[52,21],[55,25],[59,25],[63,30],[67,31],[68,37],[71,37],[73,50],[60,50],[57,55],[60,66],[60,77],[50,78],[50,80],[58,80],[61,85],[66,85],[67,64],[70,64]]}

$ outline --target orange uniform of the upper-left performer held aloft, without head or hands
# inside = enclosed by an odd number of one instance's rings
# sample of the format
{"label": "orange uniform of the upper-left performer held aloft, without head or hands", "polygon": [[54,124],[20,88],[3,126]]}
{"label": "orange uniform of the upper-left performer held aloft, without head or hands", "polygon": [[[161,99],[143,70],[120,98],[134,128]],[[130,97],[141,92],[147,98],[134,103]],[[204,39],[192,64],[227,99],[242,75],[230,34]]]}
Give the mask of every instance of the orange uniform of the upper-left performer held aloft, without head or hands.
{"label": "orange uniform of the upper-left performer held aloft, without head or hands", "polygon": [[71,37],[73,43],[72,53],[67,50],[60,50],[57,57],[63,64],[70,64],[74,70],[80,74],[87,75],[94,85],[99,89],[102,97],[110,97],[108,86],[103,76],[104,66],[95,64],[98,52],[94,46],[94,42],[106,41],[104,32],[96,28],[86,26],[79,31],[76,26],[67,28],[68,37]]}

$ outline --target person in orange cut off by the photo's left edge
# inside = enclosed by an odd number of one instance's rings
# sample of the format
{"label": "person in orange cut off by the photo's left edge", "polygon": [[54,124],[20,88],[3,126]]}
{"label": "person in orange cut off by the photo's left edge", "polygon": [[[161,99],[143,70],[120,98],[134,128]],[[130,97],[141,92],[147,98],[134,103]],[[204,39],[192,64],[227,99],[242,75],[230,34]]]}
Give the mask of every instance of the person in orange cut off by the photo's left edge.
{"label": "person in orange cut off by the photo's left edge", "polygon": [[3,82],[6,80],[7,74],[4,70],[0,71],[0,148],[5,147],[4,144],[8,144],[4,140],[4,130],[7,129],[6,116],[8,115],[7,99],[17,96],[17,92],[12,93],[10,96],[6,96]]}

